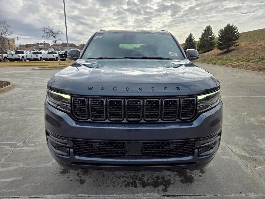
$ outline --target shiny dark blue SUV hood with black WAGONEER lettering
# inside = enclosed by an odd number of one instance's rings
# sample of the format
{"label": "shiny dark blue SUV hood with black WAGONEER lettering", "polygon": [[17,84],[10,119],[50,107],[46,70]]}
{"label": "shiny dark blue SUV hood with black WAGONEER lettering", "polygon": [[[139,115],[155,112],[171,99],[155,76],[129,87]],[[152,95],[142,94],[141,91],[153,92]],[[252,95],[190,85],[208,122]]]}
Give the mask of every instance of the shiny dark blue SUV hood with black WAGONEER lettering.
{"label": "shiny dark blue SUV hood with black WAGONEER lettering", "polygon": [[217,89],[211,73],[189,60],[77,60],[47,83],[73,95],[174,96]]}

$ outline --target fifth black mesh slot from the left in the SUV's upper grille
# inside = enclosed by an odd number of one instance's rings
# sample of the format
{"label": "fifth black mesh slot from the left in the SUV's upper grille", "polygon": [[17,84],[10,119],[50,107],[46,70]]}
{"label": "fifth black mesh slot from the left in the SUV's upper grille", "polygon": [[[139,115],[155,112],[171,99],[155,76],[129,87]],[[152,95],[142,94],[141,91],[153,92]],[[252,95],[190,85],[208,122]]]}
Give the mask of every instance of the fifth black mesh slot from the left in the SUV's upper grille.
{"label": "fifth black mesh slot from the left in the SUV's upper grille", "polygon": [[147,121],[157,121],[160,116],[160,99],[144,100],[144,119]]}

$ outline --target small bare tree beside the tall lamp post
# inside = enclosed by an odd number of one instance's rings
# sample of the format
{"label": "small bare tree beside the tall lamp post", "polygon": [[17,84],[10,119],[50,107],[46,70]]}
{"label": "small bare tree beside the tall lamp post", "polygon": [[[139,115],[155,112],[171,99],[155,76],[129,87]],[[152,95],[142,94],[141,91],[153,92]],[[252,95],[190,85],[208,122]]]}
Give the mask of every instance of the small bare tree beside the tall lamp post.
{"label": "small bare tree beside the tall lamp post", "polygon": [[58,44],[61,40],[61,35],[63,34],[61,30],[59,29],[54,29],[52,26],[42,26],[40,29],[44,34],[46,39],[53,38],[52,43],[55,44],[56,50],[58,52],[58,60],[59,60],[59,65],[61,65],[60,57],[59,57],[59,50],[58,50]]}

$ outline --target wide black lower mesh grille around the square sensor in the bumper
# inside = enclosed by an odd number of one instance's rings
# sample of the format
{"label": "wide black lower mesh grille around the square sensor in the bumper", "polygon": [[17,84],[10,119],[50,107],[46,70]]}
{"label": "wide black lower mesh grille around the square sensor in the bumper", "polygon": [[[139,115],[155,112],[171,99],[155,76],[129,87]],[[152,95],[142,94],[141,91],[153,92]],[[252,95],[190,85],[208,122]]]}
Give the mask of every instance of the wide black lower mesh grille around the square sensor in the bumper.
{"label": "wide black lower mesh grille around the square sensor in the bumper", "polygon": [[111,141],[72,140],[77,155],[109,158],[164,158],[187,157],[193,154],[196,140],[155,141],[142,143],[142,153],[126,153],[126,143]]}

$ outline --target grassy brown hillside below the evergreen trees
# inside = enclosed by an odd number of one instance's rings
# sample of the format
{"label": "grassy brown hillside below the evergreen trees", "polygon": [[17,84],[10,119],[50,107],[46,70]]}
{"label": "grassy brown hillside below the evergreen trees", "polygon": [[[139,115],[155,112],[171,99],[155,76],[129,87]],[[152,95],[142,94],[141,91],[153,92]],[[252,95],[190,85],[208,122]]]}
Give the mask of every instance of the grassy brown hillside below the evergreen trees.
{"label": "grassy brown hillside below the evergreen trees", "polygon": [[265,28],[240,34],[239,46],[231,48],[229,52],[215,48],[209,52],[199,53],[200,58],[196,61],[265,72]]}

